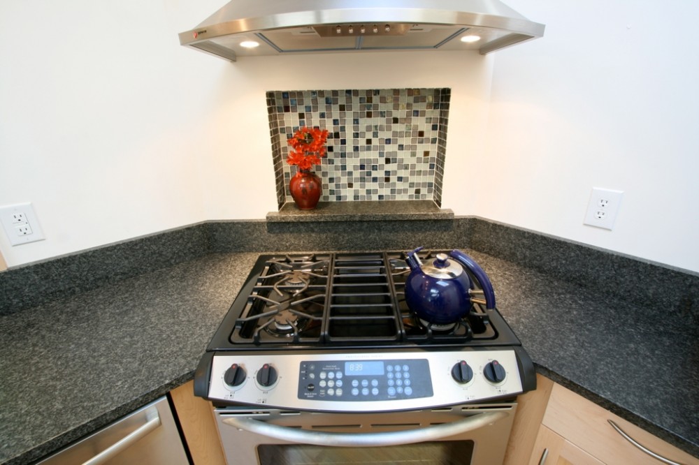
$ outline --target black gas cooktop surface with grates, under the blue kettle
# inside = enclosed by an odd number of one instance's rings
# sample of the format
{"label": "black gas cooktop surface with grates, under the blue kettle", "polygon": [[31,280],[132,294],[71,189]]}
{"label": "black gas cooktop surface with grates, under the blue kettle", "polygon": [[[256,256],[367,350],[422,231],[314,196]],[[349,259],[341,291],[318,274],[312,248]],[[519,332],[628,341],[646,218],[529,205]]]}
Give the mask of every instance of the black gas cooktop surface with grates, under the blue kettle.
{"label": "black gas cooktop surface with grates, under the blue kettle", "polygon": [[[419,256],[427,261],[439,252]],[[417,318],[405,302],[405,258],[403,252],[261,256],[208,350],[519,344],[500,313],[477,297],[456,323]]]}

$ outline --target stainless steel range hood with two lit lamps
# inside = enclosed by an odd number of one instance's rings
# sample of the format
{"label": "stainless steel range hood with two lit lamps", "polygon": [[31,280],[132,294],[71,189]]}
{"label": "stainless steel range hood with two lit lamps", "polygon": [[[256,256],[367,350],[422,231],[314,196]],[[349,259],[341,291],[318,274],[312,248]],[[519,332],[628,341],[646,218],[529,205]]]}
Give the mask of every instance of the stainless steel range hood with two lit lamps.
{"label": "stainless steel range hood with two lit lamps", "polygon": [[180,44],[236,61],[376,50],[487,54],[543,35],[543,24],[499,0],[232,0],[182,32]]}

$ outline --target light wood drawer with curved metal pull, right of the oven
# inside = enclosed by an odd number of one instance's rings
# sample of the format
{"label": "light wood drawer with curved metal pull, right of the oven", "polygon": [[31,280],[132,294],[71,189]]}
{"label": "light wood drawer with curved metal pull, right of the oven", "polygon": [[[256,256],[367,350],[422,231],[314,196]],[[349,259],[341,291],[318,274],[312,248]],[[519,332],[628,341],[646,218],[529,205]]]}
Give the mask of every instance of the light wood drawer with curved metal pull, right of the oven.
{"label": "light wood drawer with curved metal pull, right of the oven", "polygon": [[612,420],[637,443],[662,457],[681,464],[699,465],[696,457],[558,384],[551,392],[542,425],[608,465],[662,463],[627,441],[607,420]]}

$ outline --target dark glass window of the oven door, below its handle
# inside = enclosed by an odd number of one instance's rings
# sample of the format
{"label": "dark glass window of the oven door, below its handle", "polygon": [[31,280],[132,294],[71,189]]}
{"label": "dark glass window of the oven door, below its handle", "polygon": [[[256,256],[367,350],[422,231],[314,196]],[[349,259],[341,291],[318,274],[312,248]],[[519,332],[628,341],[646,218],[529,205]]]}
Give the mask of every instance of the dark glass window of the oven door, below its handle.
{"label": "dark glass window of the oven door, below its handle", "polygon": [[328,448],[305,444],[260,444],[260,465],[468,465],[473,441],[441,441],[384,448]]}

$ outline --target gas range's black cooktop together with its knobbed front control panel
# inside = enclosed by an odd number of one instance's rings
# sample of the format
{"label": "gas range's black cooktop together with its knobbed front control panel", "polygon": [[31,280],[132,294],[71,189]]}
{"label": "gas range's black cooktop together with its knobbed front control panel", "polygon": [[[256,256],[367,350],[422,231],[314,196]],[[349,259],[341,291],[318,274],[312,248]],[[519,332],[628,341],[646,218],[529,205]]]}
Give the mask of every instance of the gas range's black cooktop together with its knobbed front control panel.
{"label": "gas range's black cooktop together with its knobbed front control panel", "polygon": [[533,390],[531,359],[498,310],[486,308],[479,281],[464,318],[428,323],[405,302],[406,258],[260,256],[199,364],[195,394],[217,406],[374,412]]}

